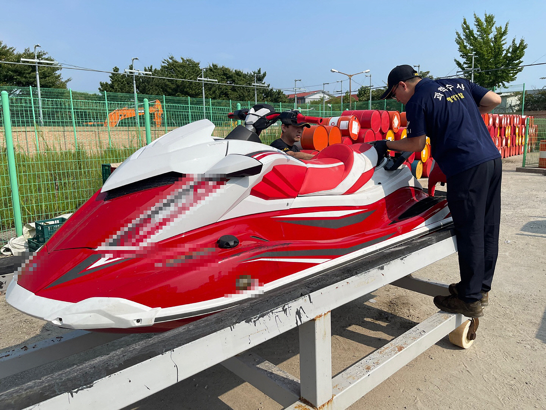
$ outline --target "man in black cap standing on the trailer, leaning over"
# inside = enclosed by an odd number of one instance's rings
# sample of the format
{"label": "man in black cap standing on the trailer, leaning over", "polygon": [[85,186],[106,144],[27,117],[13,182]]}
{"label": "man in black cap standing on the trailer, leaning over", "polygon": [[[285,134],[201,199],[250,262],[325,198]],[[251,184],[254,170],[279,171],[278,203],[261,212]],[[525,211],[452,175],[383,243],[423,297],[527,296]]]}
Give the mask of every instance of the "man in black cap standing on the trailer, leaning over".
{"label": "man in black cap standing on the trailer, leaning over", "polygon": [[382,99],[389,97],[406,104],[408,138],[378,141],[378,154],[421,151],[428,136],[431,155],[447,177],[461,280],[434,304],[444,312],[481,317],[498,255],[502,166],[480,114],[500,104],[501,97],[462,78],[422,79],[408,65],[390,72]]}

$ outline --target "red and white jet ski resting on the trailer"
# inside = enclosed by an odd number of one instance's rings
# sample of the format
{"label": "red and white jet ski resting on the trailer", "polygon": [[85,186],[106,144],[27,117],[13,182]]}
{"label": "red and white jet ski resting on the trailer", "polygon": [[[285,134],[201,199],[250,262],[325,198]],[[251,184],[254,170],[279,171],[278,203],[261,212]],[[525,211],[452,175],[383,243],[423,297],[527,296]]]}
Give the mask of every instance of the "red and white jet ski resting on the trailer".
{"label": "red and white jet ski resting on the trailer", "polygon": [[301,161],[260,142],[271,106],[235,115],[246,126],[225,139],[200,120],[136,151],[22,266],[8,303],[69,329],[165,331],[451,220],[403,157],[335,144]]}

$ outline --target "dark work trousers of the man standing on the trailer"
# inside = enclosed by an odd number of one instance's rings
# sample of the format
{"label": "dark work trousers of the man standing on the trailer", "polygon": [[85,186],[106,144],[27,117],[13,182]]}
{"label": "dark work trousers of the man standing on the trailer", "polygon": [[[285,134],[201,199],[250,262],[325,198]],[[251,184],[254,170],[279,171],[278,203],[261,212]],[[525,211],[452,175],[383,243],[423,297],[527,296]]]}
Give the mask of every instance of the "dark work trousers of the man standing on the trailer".
{"label": "dark work trousers of the man standing on the trailer", "polygon": [[498,255],[501,221],[502,161],[490,160],[447,179],[447,201],[453,216],[465,302],[489,292]]}

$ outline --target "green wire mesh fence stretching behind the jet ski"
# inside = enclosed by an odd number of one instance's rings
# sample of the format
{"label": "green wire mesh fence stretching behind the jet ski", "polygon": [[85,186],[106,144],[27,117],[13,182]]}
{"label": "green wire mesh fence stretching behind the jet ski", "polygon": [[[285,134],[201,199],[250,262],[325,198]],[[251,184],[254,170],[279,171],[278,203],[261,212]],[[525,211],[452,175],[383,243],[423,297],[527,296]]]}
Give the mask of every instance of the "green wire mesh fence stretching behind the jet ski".
{"label": "green wire mesh fence stretching behind the jet ski", "polygon": [[[214,136],[225,137],[237,125],[227,114],[233,112],[237,104],[241,108],[254,105],[253,101],[203,101],[202,98],[139,94],[135,106],[133,94],[104,92],[99,95],[42,88],[39,99],[34,87],[5,86],[2,90],[9,95],[23,223],[73,212],[100,188],[102,163],[122,162],[143,147],[146,143],[145,98],[150,102],[152,140],[203,118],[215,124]],[[294,102],[269,104],[279,112],[294,108]],[[297,104],[296,108],[304,115],[329,117],[341,115],[348,106],[348,103],[305,103]],[[392,99],[352,103],[352,109],[370,106],[399,111],[404,108]],[[0,241],[5,241],[15,234],[2,120],[0,118]],[[260,137],[269,144],[280,134],[277,123]],[[534,152],[529,153],[528,164],[534,163]],[[536,156],[537,162],[538,154]]]}

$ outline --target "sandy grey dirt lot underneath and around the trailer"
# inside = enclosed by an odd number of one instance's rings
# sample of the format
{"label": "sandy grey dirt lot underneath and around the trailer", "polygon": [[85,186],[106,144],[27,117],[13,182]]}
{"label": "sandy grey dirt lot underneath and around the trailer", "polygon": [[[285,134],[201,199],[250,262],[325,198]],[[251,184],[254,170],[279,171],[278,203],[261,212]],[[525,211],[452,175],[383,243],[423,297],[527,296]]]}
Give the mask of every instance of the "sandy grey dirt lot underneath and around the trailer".
{"label": "sandy grey dirt lot underneath and around the trailer", "polygon": [[[350,408],[546,409],[546,176],[515,172],[521,156],[503,160],[500,255],[489,307],[468,350],[444,337]],[[456,255],[416,276],[458,280]],[[437,312],[432,298],[385,286],[373,300],[357,300],[332,312],[333,374]],[[0,350],[53,338],[63,330],[14,311],[0,298]],[[132,340],[130,336],[54,365],[0,380],[5,391]],[[298,332],[253,349],[299,376]],[[2,405],[0,404],[0,408]],[[128,409],[280,409],[269,397],[222,366],[182,380]]]}

